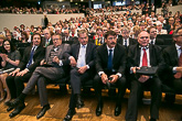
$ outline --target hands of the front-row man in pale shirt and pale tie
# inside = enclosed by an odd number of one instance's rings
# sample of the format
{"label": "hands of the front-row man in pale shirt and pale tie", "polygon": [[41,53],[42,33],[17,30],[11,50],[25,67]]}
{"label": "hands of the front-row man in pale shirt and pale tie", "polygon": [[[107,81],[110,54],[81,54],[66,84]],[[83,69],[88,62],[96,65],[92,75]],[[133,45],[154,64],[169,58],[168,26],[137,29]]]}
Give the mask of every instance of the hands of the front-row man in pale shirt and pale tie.
{"label": "hands of the front-row man in pale shirt and pale tie", "polygon": [[[71,59],[71,66],[72,66],[72,67],[76,67],[77,63],[76,63],[75,58],[74,58],[73,56],[71,56],[69,59]],[[87,68],[87,66],[85,65],[85,66],[83,66],[83,67],[79,67],[79,68],[77,69],[77,72],[78,72],[79,74],[84,74],[87,69],[88,69],[88,68]]]}

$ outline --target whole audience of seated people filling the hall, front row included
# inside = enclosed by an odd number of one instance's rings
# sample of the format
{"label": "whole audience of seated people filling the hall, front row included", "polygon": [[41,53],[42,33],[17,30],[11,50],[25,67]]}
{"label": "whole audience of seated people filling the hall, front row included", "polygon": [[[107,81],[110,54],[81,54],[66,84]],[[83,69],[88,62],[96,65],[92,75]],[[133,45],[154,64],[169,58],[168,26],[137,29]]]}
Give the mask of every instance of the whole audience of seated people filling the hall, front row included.
{"label": "whole audience of seated people filling the hall, front row included", "polygon": [[[131,79],[131,90],[135,91],[131,91],[129,97],[126,120],[137,120],[137,100],[139,98],[137,96],[142,87],[147,85],[154,94],[152,95],[150,120],[156,121],[159,119],[162,81],[158,76],[141,75],[136,77],[135,74],[136,69],[142,66],[159,66],[162,68],[161,70],[169,70],[171,75],[174,75],[174,78],[172,78],[173,76],[170,77],[174,80],[172,81],[173,85],[171,82],[165,82],[165,85],[182,94],[179,87],[182,85],[180,82],[181,76],[178,75],[182,72],[181,67],[178,67],[181,65],[173,64],[174,61],[170,59],[174,58],[170,57],[174,54],[176,55],[175,58],[180,58],[181,50],[178,50],[178,54],[176,52],[171,54],[169,47],[161,48],[163,47],[161,45],[167,45],[165,41],[157,37],[160,34],[172,33],[175,44],[168,46],[176,48],[182,46],[182,19],[181,13],[176,12],[176,14],[172,16],[168,13],[165,19],[162,15],[156,15],[154,12],[151,12],[151,15],[139,13],[87,15],[86,18],[71,18],[69,20],[58,21],[54,25],[50,22],[47,26],[34,28],[34,25],[31,25],[29,28],[21,24],[20,28],[14,26],[13,32],[4,28],[4,32],[0,36],[0,45],[2,50],[7,51],[1,50],[3,53],[0,55],[1,66],[8,69],[6,67],[11,65],[14,70],[3,73],[4,77],[1,76],[2,78],[0,78],[2,81],[0,85],[0,100],[4,99],[3,84],[8,92],[4,103],[9,106],[7,110],[14,109],[10,113],[10,118],[12,118],[25,108],[24,99],[26,95],[39,84],[39,95],[43,107],[36,116],[40,119],[50,109],[45,91],[46,81],[54,82],[56,79],[63,78],[67,73],[67,66],[71,65],[73,90],[69,109],[64,118],[65,121],[69,121],[76,113],[75,107],[84,107],[81,97],[81,84],[93,75],[90,73],[95,69],[94,65],[96,65],[97,74],[94,78],[94,88],[98,97],[96,116],[103,113],[104,102],[100,89],[103,85],[108,85],[108,82],[121,86],[121,88],[119,87],[118,101],[115,108],[115,116],[120,114],[121,101],[127,88],[126,80],[129,78]],[[13,54],[19,52],[10,47],[14,45],[19,47],[20,43],[31,43],[25,51],[23,50],[24,53],[21,54],[21,59],[19,54],[15,54],[15,57]],[[95,45],[97,45],[97,48]],[[164,50],[163,57],[162,50]],[[150,53],[152,56],[146,55]],[[42,66],[39,67],[40,65]],[[163,65],[167,66],[163,67]],[[62,75],[57,72],[62,72]],[[79,85],[75,85],[74,79]],[[28,82],[25,88],[23,82]],[[15,100],[11,101],[14,98]],[[135,103],[132,100],[136,100]],[[132,107],[135,107],[135,110],[131,110]]]}

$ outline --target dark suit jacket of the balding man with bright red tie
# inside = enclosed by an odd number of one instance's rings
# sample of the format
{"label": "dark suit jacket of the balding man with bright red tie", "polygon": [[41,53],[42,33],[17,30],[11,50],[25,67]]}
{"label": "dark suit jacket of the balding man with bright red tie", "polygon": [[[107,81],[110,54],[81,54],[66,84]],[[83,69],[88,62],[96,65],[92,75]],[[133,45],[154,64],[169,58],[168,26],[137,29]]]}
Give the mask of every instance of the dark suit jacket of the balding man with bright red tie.
{"label": "dark suit jacket of the balding man with bright red tie", "polygon": [[[139,47],[139,44],[129,46],[128,50],[128,62],[127,62],[127,68],[130,67],[139,67],[140,65],[140,53],[141,48]],[[158,66],[159,68],[162,68],[164,65],[162,55],[161,55],[161,47],[149,44],[149,58],[150,58],[150,65]],[[129,72],[128,72],[129,73]]]}

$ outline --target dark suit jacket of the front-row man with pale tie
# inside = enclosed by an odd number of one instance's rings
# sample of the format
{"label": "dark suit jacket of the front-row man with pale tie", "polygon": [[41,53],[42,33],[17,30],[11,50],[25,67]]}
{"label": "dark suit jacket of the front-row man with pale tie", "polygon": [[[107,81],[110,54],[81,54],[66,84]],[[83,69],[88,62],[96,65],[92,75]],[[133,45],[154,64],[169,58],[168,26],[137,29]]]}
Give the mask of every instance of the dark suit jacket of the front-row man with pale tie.
{"label": "dark suit jacket of the front-row man with pale tie", "polygon": [[[75,58],[75,61],[78,59],[78,54],[79,54],[79,47],[81,44],[73,44],[71,47],[71,51],[68,53],[66,53],[66,56],[73,56]],[[96,55],[96,45],[94,43],[88,43],[87,47],[86,47],[86,65],[89,66],[88,72],[94,74],[95,70],[95,55]]]}

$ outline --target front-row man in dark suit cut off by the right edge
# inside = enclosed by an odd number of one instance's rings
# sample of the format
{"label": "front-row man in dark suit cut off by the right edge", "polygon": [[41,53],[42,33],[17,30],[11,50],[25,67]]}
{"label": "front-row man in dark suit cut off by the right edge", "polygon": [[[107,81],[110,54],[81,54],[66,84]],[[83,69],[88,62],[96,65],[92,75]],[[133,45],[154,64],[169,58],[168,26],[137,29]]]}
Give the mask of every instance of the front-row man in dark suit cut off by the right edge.
{"label": "front-row man in dark suit cut off by the right edge", "polygon": [[[167,64],[163,73],[168,75],[162,76],[162,80],[164,85],[174,89],[175,92],[182,94],[182,28],[173,32],[173,41],[175,42],[174,45],[163,50],[163,58]],[[175,96],[171,100],[175,100]]]}

